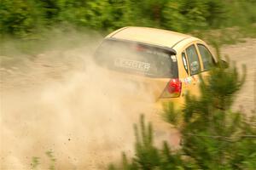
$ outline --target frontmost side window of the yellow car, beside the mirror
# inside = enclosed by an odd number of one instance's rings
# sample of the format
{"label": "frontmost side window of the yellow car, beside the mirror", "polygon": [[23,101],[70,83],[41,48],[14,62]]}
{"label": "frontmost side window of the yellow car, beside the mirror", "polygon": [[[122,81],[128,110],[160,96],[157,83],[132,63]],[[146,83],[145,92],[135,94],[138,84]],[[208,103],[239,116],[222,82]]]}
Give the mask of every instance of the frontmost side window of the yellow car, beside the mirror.
{"label": "frontmost side window of the yellow car, beside the mirror", "polygon": [[202,60],[203,66],[204,66],[204,70],[207,71],[213,65],[212,54],[210,53],[209,49],[207,49],[202,44],[197,44],[197,47],[198,47],[199,52],[201,54],[201,60]]}

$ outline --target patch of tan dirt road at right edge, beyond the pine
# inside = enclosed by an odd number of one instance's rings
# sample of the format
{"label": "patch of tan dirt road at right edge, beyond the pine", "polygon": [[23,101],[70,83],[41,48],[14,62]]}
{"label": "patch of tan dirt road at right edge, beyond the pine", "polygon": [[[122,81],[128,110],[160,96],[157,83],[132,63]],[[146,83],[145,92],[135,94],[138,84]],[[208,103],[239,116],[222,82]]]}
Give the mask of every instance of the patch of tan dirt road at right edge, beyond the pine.
{"label": "patch of tan dirt road at right edge, beyond the pine", "polygon": [[235,100],[233,109],[242,110],[247,114],[256,111],[256,39],[247,39],[236,45],[225,46],[221,49],[223,55],[228,55],[231,61],[241,71],[241,65],[247,67],[246,82]]}

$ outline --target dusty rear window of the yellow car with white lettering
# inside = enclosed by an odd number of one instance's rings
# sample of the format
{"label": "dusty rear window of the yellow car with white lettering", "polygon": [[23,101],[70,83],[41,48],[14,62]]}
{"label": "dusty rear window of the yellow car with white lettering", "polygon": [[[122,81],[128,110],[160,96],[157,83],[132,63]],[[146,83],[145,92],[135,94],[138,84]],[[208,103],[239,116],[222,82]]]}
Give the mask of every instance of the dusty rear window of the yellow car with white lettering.
{"label": "dusty rear window of the yellow car with white lettering", "polygon": [[148,77],[177,77],[177,59],[164,48],[118,40],[104,40],[96,63],[114,71]]}

